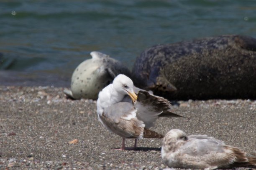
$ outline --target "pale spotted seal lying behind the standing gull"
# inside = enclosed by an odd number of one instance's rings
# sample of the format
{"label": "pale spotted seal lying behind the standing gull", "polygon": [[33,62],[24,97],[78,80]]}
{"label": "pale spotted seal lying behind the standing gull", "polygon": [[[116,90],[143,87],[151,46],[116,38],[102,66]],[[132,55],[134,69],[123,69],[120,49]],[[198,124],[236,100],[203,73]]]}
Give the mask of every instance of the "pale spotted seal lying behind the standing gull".
{"label": "pale spotted seal lying behind the standing gull", "polygon": [[68,97],[96,100],[100,90],[112,83],[118,74],[131,77],[130,70],[120,61],[97,51],[91,52],[90,55],[92,59],[85,60],[74,70],[71,90],[64,90]]}

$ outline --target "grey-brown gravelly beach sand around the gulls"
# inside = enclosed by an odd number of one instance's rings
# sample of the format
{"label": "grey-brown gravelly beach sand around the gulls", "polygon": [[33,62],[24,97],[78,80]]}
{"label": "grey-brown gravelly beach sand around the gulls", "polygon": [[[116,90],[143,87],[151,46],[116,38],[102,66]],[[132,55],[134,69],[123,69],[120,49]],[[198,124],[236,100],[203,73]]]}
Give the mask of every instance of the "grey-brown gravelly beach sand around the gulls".
{"label": "grey-brown gravelly beach sand around the gulls", "polygon": [[[97,120],[96,101],[70,100],[62,87],[0,86],[0,169],[166,168],[161,140],[122,138]],[[256,100],[177,101],[172,111],[187,118],[159,118],[152,130],[205,134],[256,156]],[[126,147],[134,140],[127,139]],[[249,169],[249,168],[239,168]]]}

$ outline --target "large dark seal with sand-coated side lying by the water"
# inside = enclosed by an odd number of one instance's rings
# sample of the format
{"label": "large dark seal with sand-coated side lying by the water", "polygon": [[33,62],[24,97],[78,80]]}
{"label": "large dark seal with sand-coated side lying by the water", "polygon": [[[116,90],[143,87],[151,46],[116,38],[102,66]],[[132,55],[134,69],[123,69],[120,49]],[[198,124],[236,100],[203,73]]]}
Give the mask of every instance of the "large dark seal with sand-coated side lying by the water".
{"label": "large dark seal with sand-coated side lying by the water", "polygon": [[256,99],[256,39],[221,35],[155,45],[136,58],[132,79],[169,100]]}

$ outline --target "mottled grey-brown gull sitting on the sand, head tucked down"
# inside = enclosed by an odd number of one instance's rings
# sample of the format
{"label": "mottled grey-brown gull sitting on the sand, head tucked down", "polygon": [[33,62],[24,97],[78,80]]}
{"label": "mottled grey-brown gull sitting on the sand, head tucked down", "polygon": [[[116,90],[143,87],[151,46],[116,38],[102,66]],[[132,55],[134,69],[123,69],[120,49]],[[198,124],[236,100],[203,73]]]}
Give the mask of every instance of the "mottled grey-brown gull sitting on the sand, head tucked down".
{"label": "mottled grey-brown gull sitting on the sand, head tucked down", "polygon": [[207,135],[189,135],[172,129],[163,139],[161,157],[172,168],[216,169],[254,166],[256,158]]}

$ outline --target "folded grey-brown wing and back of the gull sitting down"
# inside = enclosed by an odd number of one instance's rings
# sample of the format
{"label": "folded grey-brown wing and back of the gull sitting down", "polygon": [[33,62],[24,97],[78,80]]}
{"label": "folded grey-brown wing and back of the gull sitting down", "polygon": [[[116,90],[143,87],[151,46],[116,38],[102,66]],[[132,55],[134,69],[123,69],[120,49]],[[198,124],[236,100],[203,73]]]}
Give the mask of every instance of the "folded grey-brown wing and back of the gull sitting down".
{"label": "folded grey-brown wing and back of the gull sitting down", "polygon": [[188,136],[176,158],[182,165],[191,165],[188,168],[193,168],[193,165],[207,165],[209,169],[227,168],[234,163],[248,163],[246,153],[207,135]]}

